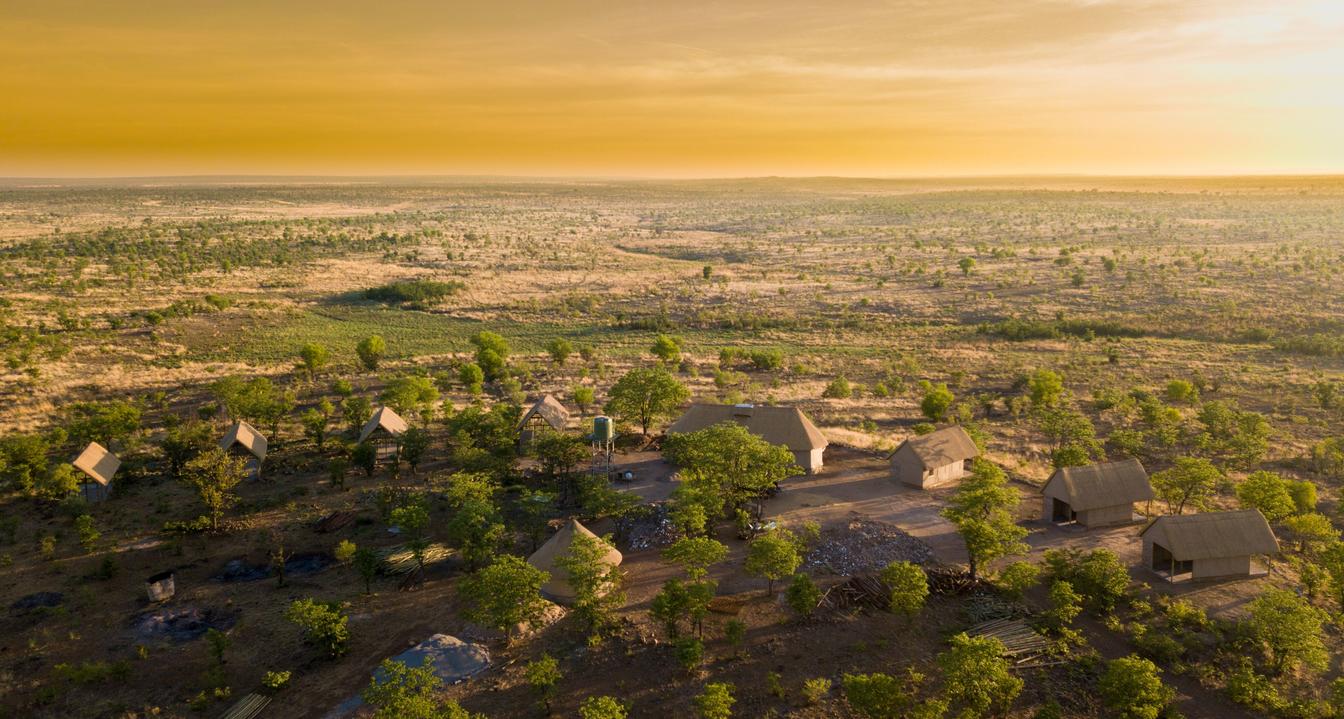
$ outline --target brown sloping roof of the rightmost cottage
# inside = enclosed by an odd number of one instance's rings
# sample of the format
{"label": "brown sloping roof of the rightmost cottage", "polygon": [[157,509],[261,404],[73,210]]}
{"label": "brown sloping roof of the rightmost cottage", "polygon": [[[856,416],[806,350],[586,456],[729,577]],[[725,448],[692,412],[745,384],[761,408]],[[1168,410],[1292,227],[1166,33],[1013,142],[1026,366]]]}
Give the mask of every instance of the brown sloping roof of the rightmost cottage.
{"label": "brown sloping roof of the rightmost cottage", "polygon": [[1278,540],[1259,509],[1157,517],[1140,536],[1157,531],[1177,562],[1278,552]]}

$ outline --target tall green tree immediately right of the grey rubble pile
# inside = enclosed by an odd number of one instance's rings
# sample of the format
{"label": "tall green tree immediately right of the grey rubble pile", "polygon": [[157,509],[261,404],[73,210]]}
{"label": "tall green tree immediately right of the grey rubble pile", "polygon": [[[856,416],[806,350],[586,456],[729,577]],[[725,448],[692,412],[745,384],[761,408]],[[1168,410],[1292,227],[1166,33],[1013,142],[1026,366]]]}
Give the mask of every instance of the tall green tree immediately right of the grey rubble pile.
{"label": "tall green tree immediately right of the grey rubble pile", "polygon": [[995,559],[1027,551],[1021,542],[1027,530],[1019,527],[1012,515],[1019,501],[1017,491],[1008,487],[1001,469],[974,460],[970,476],[962,480],[950,507],[942,511],[966,544],[972,578]]}

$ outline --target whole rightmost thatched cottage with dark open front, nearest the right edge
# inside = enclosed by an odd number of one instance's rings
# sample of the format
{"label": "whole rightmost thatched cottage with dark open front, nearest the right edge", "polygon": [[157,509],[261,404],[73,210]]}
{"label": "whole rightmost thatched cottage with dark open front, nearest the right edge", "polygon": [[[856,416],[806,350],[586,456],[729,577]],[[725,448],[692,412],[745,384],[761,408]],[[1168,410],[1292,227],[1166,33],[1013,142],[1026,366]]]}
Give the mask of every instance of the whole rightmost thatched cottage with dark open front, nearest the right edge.
{"label": "whole rightmost thatched cottage with dark open front, nearest the right edge", "polygon": [[1259,509],[1157,517],[1140,536],[1144,566],[1168,582],[1263,574],[1251,556],[1278,554]]}

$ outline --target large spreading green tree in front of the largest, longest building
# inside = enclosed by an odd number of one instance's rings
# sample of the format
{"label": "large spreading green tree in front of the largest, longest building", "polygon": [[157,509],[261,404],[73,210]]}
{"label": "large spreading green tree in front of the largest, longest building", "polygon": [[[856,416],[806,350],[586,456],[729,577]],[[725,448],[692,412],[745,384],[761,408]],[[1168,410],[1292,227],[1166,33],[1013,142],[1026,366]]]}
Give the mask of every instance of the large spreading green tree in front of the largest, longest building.
{"label": "large spreading green tree in front of the largest, longest building", "polygon": [[735,422],[672,434],[663,442],[663,453],[681,469],[673,504],[700,504],[706,517],[737,509],[802,473],[788,448],[771,445]]}

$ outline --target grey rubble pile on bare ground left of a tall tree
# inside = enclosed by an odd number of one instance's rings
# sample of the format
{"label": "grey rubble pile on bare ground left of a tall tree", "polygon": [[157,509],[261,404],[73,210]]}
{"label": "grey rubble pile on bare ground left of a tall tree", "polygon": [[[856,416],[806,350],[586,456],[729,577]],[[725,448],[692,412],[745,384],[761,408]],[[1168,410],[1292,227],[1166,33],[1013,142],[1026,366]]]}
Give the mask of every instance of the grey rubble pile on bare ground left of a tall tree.
{"label": "grey rubble pile on bare ground left of a tall tree", "polygon": [[853,519],[848,527],[821,532],[804,566],[841,577],[880,571],[892,562],[926,564],[933,547],[895,524]]}

